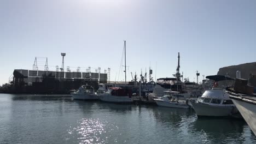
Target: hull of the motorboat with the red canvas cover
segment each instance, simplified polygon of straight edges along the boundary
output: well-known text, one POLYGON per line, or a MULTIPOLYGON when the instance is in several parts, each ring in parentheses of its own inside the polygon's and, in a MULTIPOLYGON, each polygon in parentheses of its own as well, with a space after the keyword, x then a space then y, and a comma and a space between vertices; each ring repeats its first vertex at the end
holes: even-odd
POLYGON ((101 95, 100 100, 110 103, 132 103, 133 99, 128 96, 101 95))

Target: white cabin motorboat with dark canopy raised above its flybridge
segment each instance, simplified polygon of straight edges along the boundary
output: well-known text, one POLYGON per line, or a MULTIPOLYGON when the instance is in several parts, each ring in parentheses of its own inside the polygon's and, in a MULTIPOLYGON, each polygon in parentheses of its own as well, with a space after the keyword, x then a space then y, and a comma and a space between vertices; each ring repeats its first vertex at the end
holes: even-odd
POLYGON ((195 103, 192 103, 197 116, 231 116, 238 113, 229 94, 225 89, 218 87, 218 81, 234 80, 222 75, 207 76, 207 79, 214 80, 214 86, 211 90, 206 90, 201 97, 198 97, 195 103))

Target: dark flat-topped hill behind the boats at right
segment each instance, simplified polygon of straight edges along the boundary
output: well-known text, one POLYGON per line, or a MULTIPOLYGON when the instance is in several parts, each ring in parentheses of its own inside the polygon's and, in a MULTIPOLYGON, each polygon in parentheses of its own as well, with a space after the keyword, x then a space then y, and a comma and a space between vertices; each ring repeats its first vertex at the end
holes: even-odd
POLYGON ((220 68, 218 75, 226 75, 228 73, 230 77, 236 78, 237 70, 241 71, 242 79, 249 79, 250 75, 256 75, 256 62, 220 68))

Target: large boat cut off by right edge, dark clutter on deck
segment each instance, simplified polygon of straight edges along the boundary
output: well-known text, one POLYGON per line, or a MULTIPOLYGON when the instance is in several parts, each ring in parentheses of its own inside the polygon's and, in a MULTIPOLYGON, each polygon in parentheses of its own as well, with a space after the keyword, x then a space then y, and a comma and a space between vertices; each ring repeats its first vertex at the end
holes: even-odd
POLYGON ((236 79, 234 89, 226 88, 226 92, 230 94, 229 98, 236 105, 254 135, 256 135, 256 94, 253 92, 253 89, 254 87, 247 86, 247 80, 236 79), (240 86, 237 86, 237 82, 240 86), (241 85, 242 83, 245 85, 241 85))

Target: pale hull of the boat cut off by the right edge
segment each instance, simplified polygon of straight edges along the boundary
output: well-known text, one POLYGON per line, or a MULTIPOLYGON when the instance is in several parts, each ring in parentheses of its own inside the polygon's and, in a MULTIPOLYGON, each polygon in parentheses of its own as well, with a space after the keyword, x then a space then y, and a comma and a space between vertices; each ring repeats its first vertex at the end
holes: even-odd
MULTIPOLYGON (((256 135, 256 104, 247 103, 246 101, 232 99, 236 105, 238 111, 241 113, 249 127, 252 129, 254 135, 256 135)), ((256 100, 255 100, 256 101, 256 100)))

